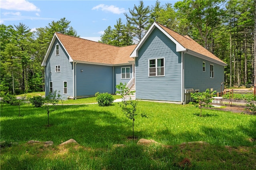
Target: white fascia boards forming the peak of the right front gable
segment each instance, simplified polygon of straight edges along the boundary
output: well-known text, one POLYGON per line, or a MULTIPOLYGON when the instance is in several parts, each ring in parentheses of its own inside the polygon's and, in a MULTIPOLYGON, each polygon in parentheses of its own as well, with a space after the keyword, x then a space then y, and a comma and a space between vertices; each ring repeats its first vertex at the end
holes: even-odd
POLYGON ((168 34, 166 31, 164 31, 158 24, 156 24, 156 22, 154 22, 152 24, 152 26, 148 29, 148 31, 146 32, 145 36, 142 38, 142 40, 138 43, 138 45, 136 46, 136 48, 134 49, 134 51, 132 51, 130 57, 138 57, 138 50, 140 49, 140 47, 143 45, 143 43, 146 41, 146 39, 148 38, 148 36, 151 34, 151 32, 154 30, 154 28, 158 28, 162 33, 164 33, 168 38, 170 38, 170 40, 172 40, 172 42, 174 42, 176 44, 176 51, 177 52, 181 52, 181 51, 186 51, 186 48, 183 47, 179 42, 177 42, 172 36, 170 36, 170 34, 168 34))

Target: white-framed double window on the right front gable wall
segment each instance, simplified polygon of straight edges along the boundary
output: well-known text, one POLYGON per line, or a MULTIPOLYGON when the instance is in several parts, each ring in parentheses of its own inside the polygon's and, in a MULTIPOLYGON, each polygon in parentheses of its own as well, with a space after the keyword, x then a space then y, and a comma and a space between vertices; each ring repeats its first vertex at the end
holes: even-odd
POLYGON ((149 76, 164 76, 164 59, 150 59, 149 60, 149 76))

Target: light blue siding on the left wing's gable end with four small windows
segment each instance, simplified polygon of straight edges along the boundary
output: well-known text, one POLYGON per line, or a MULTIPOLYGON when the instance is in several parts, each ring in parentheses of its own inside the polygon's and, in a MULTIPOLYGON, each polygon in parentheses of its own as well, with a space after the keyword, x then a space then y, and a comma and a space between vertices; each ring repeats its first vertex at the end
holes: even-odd
POLYGON ((45 66, 45 95, 49 95, 50 81, 52 81, 53 91, 60 93, 62 98, 67 99, 68 96, 73 96, 73 68, 72 62, 69 62, 69 57, 56 39, 50 51, 49 57, 45 66), (56 44, 59 44, 59 55, 55 55, 56 44), (60 72, 55 72, 55 66, 60 65, 60 72), (63 94, 63 81, 67 81, 67 94, 63 94), (60 92, 59 92, 60 91, 60 92))

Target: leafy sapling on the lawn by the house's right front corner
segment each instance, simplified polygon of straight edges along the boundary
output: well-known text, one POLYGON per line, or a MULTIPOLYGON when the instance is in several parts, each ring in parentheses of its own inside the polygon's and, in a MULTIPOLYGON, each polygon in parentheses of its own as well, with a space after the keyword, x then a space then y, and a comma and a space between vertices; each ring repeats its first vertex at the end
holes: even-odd
POLYGON ((191 97, 194 99, 194 101, 190 102, 191 104, 195 105, 196 107, 200 108, 200 117, 202 117, 202 106, 203 107, 211 107, 209 103, 212 102, 212 97, 214 97, 216 91, 210 91, 210 89, 206 89, 206 91, 200 93, 191 93, 191 97))

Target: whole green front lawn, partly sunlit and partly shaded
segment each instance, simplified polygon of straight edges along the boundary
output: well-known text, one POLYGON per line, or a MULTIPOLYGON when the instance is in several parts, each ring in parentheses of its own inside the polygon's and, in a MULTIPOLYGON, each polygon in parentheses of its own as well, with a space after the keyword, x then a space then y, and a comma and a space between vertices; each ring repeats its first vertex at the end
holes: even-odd
MULTIPOLYGON (((76 100, 78 101, 78 100, 76 100)), ((132 121, 118 103, 59 105, 47 113, 31 105, 4 105, 1 111, 1 169, 254 169, 256 116, 139 101, 135 136, 162 145, 140 146, 130 140, 132 121), (73 138, 78 144, 58 146, 73 138), (27 144, 29 140, 54 145, 27 144), (3 144, 3 141, 6 141, 3 144), (204 141, 205 143, 182 144, 204 141), (125 144, 113 147, 113 144, 125 144)))

